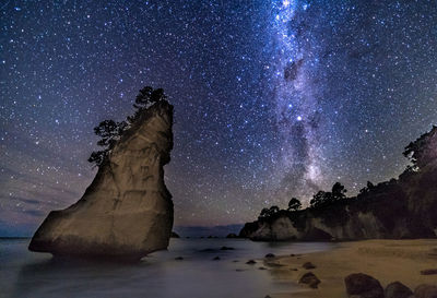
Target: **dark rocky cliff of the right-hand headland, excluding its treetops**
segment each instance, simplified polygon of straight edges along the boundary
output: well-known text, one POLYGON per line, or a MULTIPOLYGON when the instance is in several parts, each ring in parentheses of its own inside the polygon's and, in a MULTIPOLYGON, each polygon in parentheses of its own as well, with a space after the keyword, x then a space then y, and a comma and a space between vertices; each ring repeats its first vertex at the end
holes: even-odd
POLYGON ((436 214, 437 162, 433 162, 356 198, 320 208, 281 211, 248 223, 239 236, 262 241, 434 238, 436 214))

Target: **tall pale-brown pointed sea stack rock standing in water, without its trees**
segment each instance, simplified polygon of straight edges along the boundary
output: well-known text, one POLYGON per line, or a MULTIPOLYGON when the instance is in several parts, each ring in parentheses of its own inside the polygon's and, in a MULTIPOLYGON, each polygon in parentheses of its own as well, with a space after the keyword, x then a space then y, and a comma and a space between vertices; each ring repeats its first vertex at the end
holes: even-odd
POLYGON ((166 249, 173 227, 164 165, 173 148, 173 106, 144 111, 115 144, 82 199, 52 211, 29 250, 140 259, 166 249))

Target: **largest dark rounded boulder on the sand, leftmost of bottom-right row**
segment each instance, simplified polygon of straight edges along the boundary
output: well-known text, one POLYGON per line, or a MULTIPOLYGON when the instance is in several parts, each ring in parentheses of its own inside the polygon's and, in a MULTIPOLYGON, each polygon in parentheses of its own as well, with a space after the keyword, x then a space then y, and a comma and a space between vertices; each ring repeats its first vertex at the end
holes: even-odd
POLYGON ((346 293, 349 296, 362 298, 383 298, 383 288, 381 284, 364 273, 354 273, 344 278, 346 293))

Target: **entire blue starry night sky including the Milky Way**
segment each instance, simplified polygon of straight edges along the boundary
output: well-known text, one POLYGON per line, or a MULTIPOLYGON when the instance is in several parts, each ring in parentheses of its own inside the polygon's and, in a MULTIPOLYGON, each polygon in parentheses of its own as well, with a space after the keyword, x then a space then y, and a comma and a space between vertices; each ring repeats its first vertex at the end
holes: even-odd
POLYGON ((436 1, 2 1, 0 26, 3 234, 80 199, 144 85, 175 106, 176 226, 354 194, 437 123, 436 1))

